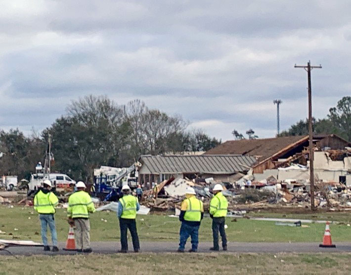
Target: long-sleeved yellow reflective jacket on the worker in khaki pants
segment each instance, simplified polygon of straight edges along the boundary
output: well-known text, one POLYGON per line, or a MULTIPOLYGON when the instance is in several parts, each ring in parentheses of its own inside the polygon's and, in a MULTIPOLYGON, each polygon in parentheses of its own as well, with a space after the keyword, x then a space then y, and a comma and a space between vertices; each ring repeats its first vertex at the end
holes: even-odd
POLYGON ((89 212, 95 212, 94 203, 85 191, 77 191, 68 198, 67 216, 70 218, 88 218, 89 212))

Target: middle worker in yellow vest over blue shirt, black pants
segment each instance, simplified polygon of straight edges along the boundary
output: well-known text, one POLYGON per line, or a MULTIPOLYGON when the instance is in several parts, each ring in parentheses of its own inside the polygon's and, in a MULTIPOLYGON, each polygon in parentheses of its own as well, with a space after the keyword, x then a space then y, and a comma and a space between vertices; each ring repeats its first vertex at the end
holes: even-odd
POLYGON ((139 237, 136 231, 136 211, 140 209, 140 204, 137 197, 132 196, 131 188, 128 185, 122 187, 123 197, 118 201, 117 216, 120 221, 121 231, 121 250, 120 253, 127 253, 128 242, 127 242, 127 230, 131 232, 134 252, 139 252, 140 244, 139 237))

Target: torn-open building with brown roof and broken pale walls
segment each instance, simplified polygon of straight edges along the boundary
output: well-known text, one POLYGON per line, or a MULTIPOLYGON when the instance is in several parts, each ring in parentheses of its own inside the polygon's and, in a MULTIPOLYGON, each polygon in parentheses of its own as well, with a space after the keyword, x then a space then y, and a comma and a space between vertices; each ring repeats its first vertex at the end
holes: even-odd
MULTIPOLYGON (((316 179, 351 185, 351 143, 334 134, 314 135, 313 147, 316 179)), ((205 153, 212 154, 256 157, 252 165, 256 181, 273 177, 309 183, 308 136, 227 141, 205 153)))

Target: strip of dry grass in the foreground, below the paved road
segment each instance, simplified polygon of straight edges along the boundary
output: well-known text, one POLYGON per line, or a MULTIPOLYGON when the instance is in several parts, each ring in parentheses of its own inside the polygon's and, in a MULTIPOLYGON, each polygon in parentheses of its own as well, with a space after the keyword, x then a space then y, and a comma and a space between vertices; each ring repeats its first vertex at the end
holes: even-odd
POLYGON ((350 253, 90 254, 0 257, 0 275, 18 274, 350 274, 350 253))

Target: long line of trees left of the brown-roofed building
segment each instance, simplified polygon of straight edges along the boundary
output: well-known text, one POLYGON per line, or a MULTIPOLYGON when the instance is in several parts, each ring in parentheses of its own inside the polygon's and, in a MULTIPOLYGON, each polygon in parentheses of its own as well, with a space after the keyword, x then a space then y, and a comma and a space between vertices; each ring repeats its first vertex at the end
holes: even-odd
POLYGON ((140 100, 118 105, 107 96, 89 95, 66 111, 40 134, 1 130, 0 174, 29 179, 35 164, 44 160, 49 134, 51 171, 84 181, 100 165, 126 167, 140 155, 207 151, 221 143, 202 129, 187 130, 189 123, 181 116, 150 109, 140 100))

